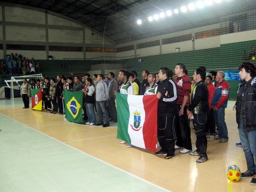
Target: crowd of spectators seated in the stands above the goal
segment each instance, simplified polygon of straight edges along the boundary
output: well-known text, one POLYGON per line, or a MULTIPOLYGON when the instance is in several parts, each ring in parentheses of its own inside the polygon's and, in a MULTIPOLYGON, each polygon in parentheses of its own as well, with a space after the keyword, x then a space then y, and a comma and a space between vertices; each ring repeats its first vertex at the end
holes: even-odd
POLYGON ((39 62, 34 58, 27 59, 21 54, 6 54, 1 61, 0 74, 2 75, 33 75, 40 72, 39 62))

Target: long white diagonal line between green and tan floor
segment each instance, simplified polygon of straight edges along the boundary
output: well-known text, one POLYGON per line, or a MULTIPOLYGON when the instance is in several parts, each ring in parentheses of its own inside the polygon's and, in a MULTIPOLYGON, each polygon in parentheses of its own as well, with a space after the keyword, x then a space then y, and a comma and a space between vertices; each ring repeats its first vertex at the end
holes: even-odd
MULTIPOLYGON (((2 114, 2 113, 0 113, 0 114, 2 114)), ((73 148, 74 150, 79 151, 79 153, 85 154, 85 155, 87 155, 87 156, 89 156, 89 157, 91 157, 91 158, 93 158, 93 159, 95 159, 95 160, 100 161, 101 163, 104 163, 104 164, 106 164, 106 165, 108 165, 108 166, 110 166, 110 167, 113 167, 114 169, 116 169, 116 170, 118 170, 118 171, 121 171, 121 172, 123 172, 123 173, 126 173, 126 174, 128 174, 128 175, 130 175, 130 176, 132 176, 132 177, 134 177, 134 178, 136 178, 136 179, 139 179, 139 180, 141 180, 141 181, 143 181, 143 182, 145 182, 145 183, 148 183, 148 184, 151 185, 151 186, 154 186, 154 187, 156 187, 156 188, 158 188, 158 189, 161 189, 161 190, 163 190, 163 191, 170 191, 170 190, 168 190, 168 189, 165 189, 165 188, 163 188, 163 187, 161 187, 161 186, 156 185, 156 184, 153 183, 153 182, 147 181, 146 179, 143 179, 143 178, 141 178, 141 177, 139 177, 139 176, 137 176, 137 175, 135 175, 135 174, 132 174, 132 173, 130 173, 130 172, 127 172, 127 171, 125 171, 125 170, 122 170, 121 168, 119 168, 119 167, 117 167, 117 166, 111 165, 110 163, 107 163, 107 162, 105 162, 105 161, 103 161, 103 160, 101 160, 101 159, 99 159, 99 158, 97 158, 97 157, 94 157, 94 156, 92 156, 92 155, 90 155, 90 154, 87 154, 87 153, 85 153, 85 152, 82 151, 82 150, 79 150, 79 149, 77 149, 77 148, 75 148, 75 147, 72 147, 72 146, 70 146, 70 145, 68 145, 68 144, 66 144, 66 143, 64 143, 64 142, 61 142, 61 141, 59 141, 59 140, 57 140, 57 139, 51 137, 50 135, 47 135, 47 134, 45 134, 45 133, 43 133, 43 132, 41 132, 41 131, 39 131, 39 130, 36 130, 36 129, 34 129, 34 128, 32 128, 32 127, 30 127, 30 126, 28 126, 28 125, 26 125, 26 124, 24 124, 24 123, 21 123, 21 122, 15 120, 15 119, 13 119, 13 118, 7 116, 7 115, 4 115, 4 114, 2 114, 2 115, 5 116, 5 117, 7 117, 7 118, 12 119, 12 120, 15 121, 15 122, 18 122, 18 123, 20 123, 20 124, 22 124, 22 125, 27 126, 27 127, 30 128, 31 130, 37 131, 38 133, 41 133, 41 134, 45 135, 46 137, 49 137, 49 138, 51 138, 51 139, 53 139, 53 140, 55 140, 55 141, 57 141, 57 142, 59 142, 59 143, 62 143, 63 145, 66 145, 66 146, 68 146, 68 147, 70 147, 70 148, 73 148)), ((53 145, 53 144, 49 144, 49 145, 53 145)))

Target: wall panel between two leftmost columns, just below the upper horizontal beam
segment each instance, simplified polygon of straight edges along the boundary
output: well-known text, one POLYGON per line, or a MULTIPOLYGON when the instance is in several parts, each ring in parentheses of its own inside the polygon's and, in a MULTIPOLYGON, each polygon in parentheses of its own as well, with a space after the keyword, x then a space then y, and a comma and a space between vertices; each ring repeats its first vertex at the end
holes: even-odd
POLYGON ((6 26, 6 41, 45 42, 45 28, 6 26))

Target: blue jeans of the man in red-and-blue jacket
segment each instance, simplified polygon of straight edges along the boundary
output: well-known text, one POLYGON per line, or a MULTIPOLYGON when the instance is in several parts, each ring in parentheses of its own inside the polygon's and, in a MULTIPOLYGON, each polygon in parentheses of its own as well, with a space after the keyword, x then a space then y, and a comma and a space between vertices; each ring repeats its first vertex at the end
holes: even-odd
POLYGON ((219 137, 228 139, 228 128, 225 122, 225 108, 220 107, 218 110, 214 110, 215 123, 218 126, 219 137))

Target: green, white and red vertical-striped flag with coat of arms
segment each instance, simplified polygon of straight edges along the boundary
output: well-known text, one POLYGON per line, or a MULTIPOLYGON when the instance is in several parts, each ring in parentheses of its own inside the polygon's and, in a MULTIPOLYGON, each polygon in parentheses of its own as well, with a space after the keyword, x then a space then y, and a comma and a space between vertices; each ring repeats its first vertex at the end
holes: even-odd
POLYGON ((156 95, 116 93, 117 139, 156 151, 157 103, 156 95))

